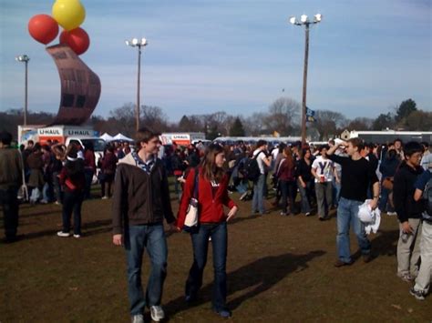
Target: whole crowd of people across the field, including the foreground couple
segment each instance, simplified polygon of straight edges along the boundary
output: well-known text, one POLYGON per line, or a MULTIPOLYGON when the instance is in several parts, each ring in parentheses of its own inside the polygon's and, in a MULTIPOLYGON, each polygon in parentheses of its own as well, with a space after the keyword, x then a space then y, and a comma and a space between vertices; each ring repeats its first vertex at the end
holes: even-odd
POLYGON ((252 200, 252 215, 258 216, 267 215, 273 207, 283 217, 316 214, 325 221, 330 210, 336 209, 338 258, 334 267, 354 262, 350 228, 364 262, 372 259, 373 248, 359 217, 362 207, 369 213, 380 210, 397 216, 397 276, 408 282, 415 280, 410 292, 417 299, 427 295, 432 269, 432 216, 425 195, 428 189, 432 192, 428 143, 404 145, 397 139, 377 145, 365 144, 359 138, 330 140, 322 146, 301 142, 269 146, 264 140, 254 145, 239 142, 225 146, 200 142, 189 147, 167 146, 158 158, 159 134, 142 128, 135 147, 129 143, 108 145, 97 162, 91 145, 40 146, 29 141, 26 147, 14 149, 11 141, 10 134, 0 134, 0 197, 6 240, 17 237, 20 187, 29 187, 31 204, 62 205, 63 229, 57 236, 70 236, 73 213, 73 237, 81 237, 81 205, 92 197, 91 185, 98 181, 100 197, 112 197, 113 243, 124 246, 127 254, 133 322, 143 321, 146 306, 153 320, 164 318, 161 295, 168 247, 163 222, 172 232, 185 229, 192 197, 198 200, 200 217, 196 227, 188 228, 193 263, 185 282, 185 300, 192 303, 199 297, 211 243, 212 309, 222 318, 231 317, 226 306, 227 222, 235 217, 240 201, 247 200, 252 200), (177 217, 171 209, 170 176, 180 200, 177 217), (239 193, 239 202, 231 198, 234 191, 239 193), (273 200, 268 202, 268 198, 273 200), (140 278, 145 250, 151 262, 146 292, 140 278))

